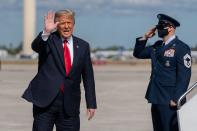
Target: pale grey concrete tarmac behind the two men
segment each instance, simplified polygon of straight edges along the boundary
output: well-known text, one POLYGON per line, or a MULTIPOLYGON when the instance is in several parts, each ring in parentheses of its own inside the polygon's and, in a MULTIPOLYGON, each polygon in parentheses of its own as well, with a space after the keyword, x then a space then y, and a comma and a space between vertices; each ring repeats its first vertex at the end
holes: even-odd
MULTIPOLYGON (((191 84, 197 81, 193 66, 191 84)), ((0 71, 0 131, 31 131, 32 104, 21 98, 37 72, 36 64, 5 64, 0 71)), ((98 109, 88 121, 84 88, 81 131, 152 131, 150 104, 144 98, 150 66, 94 66, 98 109)), ((54 129, 55 131, 55 129, 54 129)))

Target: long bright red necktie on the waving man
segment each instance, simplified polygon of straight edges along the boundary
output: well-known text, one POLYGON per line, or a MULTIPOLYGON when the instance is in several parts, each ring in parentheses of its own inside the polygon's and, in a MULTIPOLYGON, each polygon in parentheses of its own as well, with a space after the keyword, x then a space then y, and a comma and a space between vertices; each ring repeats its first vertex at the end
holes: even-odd
POLYGON ((70 50, 67 44, 68 41, 64 40, 64 62, 65 62, 66 75, 68 76, 71 69, 71 57, 70 57, 70 50))

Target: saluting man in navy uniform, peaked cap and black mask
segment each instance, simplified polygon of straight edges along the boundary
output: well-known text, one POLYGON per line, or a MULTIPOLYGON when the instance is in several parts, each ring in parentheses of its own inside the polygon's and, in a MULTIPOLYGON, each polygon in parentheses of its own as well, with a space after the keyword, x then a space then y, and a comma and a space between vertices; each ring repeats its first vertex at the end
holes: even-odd
POLYGON ((133 55, 140 59, 151 59, 152 71, 146 99, 152 104, 154 131, 178 131, 176 104, 189 85, 191 51, 175 36, 180 23, 165 14, 158 14, 157 17, 159 22, 156 27, 136 39, 133 55), (156 30, 162 40, 146 46, 156 30))

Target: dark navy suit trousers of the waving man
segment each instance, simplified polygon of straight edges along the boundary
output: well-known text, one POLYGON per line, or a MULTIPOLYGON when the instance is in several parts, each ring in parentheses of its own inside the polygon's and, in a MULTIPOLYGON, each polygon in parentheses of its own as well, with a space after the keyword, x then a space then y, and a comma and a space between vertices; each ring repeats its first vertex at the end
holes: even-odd
POLYGON ((33 105, 33 131, 79 131, 80 118, 68 116, 64 111, 63 93, 60 91, 54 101, 46 108, 33 105))

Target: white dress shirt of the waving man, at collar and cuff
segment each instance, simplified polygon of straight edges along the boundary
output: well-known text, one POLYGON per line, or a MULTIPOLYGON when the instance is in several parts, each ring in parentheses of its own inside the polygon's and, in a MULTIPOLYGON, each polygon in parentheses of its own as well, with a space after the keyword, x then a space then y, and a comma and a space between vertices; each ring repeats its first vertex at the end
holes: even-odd
MULTIPOLYGON (((47 41, 48 38, 49 38, 49 35, 50 35, 50 33, 47 33, 47 32, 45 32, 45 31, 43 30, 42 35, 41 35, 42 40, 43 40, 43 41, 47 41)), ((73 63, 73 58, 74 58, 73 37, 71 36, 70 38, 67 39, 67 41, 68 41, 68 45, 67 45, 67 46, 68 46, 68 49, 69 49, 69 51, 70 51, 71 65, 72 65, 72 63, 73 63)), ((62 46, 64 47, 64 39, 63 39, 63 38, 62 38, 62 46)))

